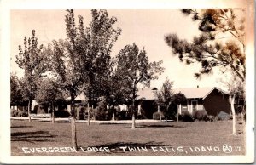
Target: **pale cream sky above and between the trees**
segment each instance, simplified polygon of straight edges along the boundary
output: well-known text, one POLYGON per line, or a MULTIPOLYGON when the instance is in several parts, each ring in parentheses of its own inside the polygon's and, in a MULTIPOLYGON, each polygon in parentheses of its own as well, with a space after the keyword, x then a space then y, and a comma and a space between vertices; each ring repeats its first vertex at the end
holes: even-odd
MULTIPOLYGON (((47 45, 52 40, 66 38, 66 9, 12 9, 10 11, 10 53, 11 71, 22 77, 22 70, 15 63, 15 55, 19 54, 18 46, 23 47, 24 37, 31 37, 36 31, 38 43, 47 45)), ((84 26, 91 20, 90 9, 74 9, 84 17, 84 26)), ((145 48, 150 61, 163 60, 165 69, 158 80, 151 82, 151 87, 160 88, 168 77, 174 82, 174 88, 219 87, 218 70, 212 75, 195 79, 194 73, 199 65, 185 65, 177 55, 172 54, 172 48, 165 43, 164 37, 169 33, 177 33, 178 37, 191 41, 198 35, 198 22, 185 16, 179 9, 108 9, 109 16, 115 16, 118 21, 115 27, 122 29, 118 41, 113 47, 112 56, 127 44, 137 43, 139 48, 145 48)))

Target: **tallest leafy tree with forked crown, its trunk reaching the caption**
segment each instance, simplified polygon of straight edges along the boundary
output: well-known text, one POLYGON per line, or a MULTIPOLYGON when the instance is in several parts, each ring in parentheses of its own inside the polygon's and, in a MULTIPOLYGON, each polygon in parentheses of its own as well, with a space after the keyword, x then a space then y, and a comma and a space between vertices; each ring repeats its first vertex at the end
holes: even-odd
POLYGON ((92 9, 91 15, 90 27, 84 28, 83 17, 79 15, 76 26, 73 9, 67 9, 67 39, 53 43, 52 68, 62 88, 71 96, 73 147, 77 147, 74 99, 84 92, 89 101, 97 100, 104 92, 110 53, 120 34, 119 29, 113 29, 116 19, 109 19, 106 10, 92 9))

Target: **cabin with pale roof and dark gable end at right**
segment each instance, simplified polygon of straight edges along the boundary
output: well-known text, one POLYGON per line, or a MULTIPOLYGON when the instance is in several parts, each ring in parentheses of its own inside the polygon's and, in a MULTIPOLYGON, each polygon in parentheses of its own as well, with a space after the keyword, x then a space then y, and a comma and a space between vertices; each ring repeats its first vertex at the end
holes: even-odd
POLYGON ((230 95, 220 88, 176 88, 175 93, 186 96, 185 104, 178 105, 178 113, 205 110, 208 115, 218 116, 220 111, 230 113, 230 95))

